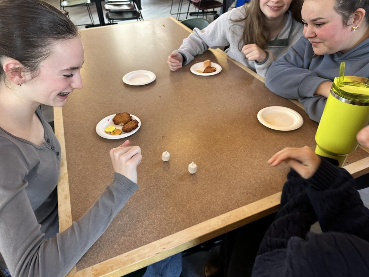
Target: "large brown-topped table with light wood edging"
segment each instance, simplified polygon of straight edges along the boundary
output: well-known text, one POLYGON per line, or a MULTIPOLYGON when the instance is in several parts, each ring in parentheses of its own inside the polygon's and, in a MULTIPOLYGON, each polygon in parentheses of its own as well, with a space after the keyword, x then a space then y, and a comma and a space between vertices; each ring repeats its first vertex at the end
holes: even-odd
MULTIPOLYGON (((286 146, 315 147, 317 123, 223 51, 206 51, 190 64, 211 59, 223 68, 217 75, 194 75, 190 65, 171 72, 166 59, 189 31, 174 18, 81 31, 84 87, 54 111, 63 147, 61 231, 86 212, 113 175, 108 152, 124 140, 99 137, 101 119, 125 111, 138 116, 142 126, 129 139, 141 146, 143 159, 139 190, 70 275, 121 276, 276 211, 289 168, 270 168, 266 161, 286 146), (154 72, 156 80, 122 82, 138 69, 154 72), (298 111, 303 126, 268 129, 256 118, 266 106, 298 111), (161 160, 165 150, 167 163, 161 160), (194 175, 187 171, 192 161, 198 165, 194 175)), ((348 170, 368 172, 367 156, 356 150, 348 170)))

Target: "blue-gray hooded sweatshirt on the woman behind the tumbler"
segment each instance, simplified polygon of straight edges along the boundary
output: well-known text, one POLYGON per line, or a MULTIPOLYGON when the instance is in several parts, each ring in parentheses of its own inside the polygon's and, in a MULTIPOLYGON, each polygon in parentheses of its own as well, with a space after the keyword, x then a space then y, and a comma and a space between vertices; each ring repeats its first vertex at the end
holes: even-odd
POLYGON ((318 85, 333 81, 339 66, 346 62, 345 75, 369 78, 369 39, 342 53, 341 51, 313 58, 307 38, 301 37, 286 54, 273 62, 266 74, 265 85, 272 92, 289 99, 301 99, 309 117, 320 121, 327 98, 314 95, 318 85))

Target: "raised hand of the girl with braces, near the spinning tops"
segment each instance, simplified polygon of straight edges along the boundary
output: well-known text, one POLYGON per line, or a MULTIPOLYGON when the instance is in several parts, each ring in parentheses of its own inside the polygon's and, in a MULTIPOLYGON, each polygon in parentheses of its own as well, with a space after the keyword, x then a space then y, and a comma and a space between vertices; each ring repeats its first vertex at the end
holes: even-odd
POLYGON ((141 163, 141 148, 130 146, 126 140, 119 147, 110 150, 114 172, 120 173, 137 184, 137 165, 141 163))

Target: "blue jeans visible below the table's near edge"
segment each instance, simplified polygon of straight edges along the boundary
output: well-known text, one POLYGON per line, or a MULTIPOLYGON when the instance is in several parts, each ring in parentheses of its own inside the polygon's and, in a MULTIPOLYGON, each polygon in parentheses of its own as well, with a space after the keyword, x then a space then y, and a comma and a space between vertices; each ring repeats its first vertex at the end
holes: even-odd
POLYGON ((182 252, 150 264, 142 277, 179 277, 182 271, 182 252))

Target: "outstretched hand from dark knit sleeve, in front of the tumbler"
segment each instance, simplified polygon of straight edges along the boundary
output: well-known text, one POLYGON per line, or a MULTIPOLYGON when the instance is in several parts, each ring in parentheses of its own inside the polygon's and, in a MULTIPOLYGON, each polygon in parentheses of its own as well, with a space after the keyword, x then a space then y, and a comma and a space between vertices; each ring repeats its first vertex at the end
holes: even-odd
POLYGON ((267 163, 275 167, 282 162, 290 165, 302 178, 308 179, 318 170, 321 158, 310 147, 286 147, 274 154, 267 163))

